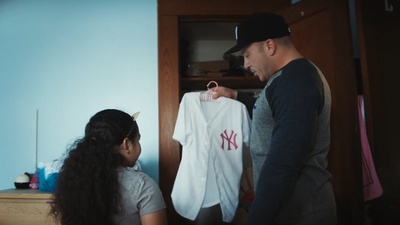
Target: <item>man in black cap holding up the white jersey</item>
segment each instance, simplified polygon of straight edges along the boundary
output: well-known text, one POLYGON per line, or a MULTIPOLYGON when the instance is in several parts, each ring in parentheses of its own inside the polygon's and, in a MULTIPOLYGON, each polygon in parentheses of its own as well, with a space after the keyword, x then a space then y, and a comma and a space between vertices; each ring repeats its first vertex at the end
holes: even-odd
POLYGON ((267 81, 255 99, 219 87, 252 115, 250 150, 255 198, 247 224, 336 224, 332 178, 326 170, 331 95, 321 71, 294 47, 284 19, 257 13, 236 28, 244 66, 267 81))

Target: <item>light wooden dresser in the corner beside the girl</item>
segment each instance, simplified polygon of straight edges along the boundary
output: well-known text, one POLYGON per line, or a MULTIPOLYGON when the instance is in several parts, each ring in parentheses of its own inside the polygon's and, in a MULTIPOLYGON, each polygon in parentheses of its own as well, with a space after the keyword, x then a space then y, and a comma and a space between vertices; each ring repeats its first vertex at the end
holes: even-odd
POLYGON ((0 225, 53 225, 51 193, 34 189, 0 191, 0 225))

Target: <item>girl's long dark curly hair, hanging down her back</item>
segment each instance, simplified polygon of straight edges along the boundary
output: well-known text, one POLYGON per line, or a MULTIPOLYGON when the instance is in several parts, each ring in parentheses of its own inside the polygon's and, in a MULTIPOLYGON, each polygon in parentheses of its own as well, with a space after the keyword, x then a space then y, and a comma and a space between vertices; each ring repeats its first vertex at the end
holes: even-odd
POLYGON ((61 225, 114 224, 121 210, 117 169, 124 158, 119 146, 137 134, 136 122, 125 112, 107 109, 95 114, 85 136, 68 150, 50 215, 61 225))

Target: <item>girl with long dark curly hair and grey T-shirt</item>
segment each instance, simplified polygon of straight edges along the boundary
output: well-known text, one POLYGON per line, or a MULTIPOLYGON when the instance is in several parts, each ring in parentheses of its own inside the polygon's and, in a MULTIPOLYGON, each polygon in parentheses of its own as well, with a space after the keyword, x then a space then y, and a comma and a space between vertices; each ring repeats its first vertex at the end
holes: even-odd
POLYGON ((141 152, 135 119, 114 109, 90 119, 59 173, 50 211, 58 224, 167 224, 157 184, 128 169, 141 152))

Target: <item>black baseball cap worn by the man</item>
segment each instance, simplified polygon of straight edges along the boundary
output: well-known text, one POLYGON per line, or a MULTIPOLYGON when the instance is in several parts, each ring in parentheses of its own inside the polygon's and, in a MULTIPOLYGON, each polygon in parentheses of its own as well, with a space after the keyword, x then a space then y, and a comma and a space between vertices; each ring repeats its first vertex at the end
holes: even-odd
POLYGON ((237 52, 254 42, 290 35, 290 29, 278 14, 256 13, 240 22, 235 33, 237 44, 224 55, 237 52))

